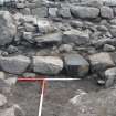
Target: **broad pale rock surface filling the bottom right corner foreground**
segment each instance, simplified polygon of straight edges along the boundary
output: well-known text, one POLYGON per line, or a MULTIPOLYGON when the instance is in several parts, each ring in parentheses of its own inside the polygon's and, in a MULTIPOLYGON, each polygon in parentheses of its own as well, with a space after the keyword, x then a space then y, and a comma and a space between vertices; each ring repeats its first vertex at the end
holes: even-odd
POLYGON ((59 116, 115 116, 116 89, 105 89, 97 93, 77 91, 76 96, 63 106, 59 116))

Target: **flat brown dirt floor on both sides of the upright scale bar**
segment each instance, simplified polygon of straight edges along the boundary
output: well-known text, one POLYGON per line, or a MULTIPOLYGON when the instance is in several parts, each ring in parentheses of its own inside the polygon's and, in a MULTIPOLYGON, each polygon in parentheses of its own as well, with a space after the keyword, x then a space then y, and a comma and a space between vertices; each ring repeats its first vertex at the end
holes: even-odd
MULTIPOLYGON (((68 99, 74 97, 77 89, 89 93, 97 92, 101 88, 92 80, 48 82, 42 116, 59 116, 68 99)), ((17 83, 12 92, 12 101, 22 107, 25 116, 38 116, 41 92, 39 83, 17 83)))

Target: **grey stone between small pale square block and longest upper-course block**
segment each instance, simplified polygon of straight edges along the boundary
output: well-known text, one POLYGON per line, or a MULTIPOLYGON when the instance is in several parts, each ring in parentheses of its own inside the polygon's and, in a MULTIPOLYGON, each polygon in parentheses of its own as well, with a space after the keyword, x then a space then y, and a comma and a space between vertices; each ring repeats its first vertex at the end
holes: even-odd
POLYGON ((57 15, 61 18, 70 19, 71 18, 70 8, 68 7, 60 8, 57 11, 57 15))

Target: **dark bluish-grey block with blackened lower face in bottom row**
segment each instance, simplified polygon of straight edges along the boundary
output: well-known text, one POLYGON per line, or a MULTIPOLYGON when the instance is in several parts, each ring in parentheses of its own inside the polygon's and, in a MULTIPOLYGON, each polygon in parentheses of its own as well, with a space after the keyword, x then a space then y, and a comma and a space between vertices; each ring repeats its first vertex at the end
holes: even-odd
POLYGON ((85 76, 89 71, 88 62, 80 54, 66 54, 64 56, 65 70, 72 76, 85 76))

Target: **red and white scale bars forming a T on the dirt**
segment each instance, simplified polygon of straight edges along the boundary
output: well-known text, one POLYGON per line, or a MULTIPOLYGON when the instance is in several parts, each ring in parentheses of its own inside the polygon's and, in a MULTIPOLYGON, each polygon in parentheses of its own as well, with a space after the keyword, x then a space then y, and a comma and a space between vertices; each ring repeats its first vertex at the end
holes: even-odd
POLYGON ((45 82, 48 81, 78 81, 81 78, 46 78, 44 76, 38 77, 18 77, 18 82, 42 82, 42 91, 40 97, 40 105, 39 105, 39 113, 38 116, 42 115, 42 106, 43 106, 43 98, 44 98, 44 89, 45 89, 45 82))

